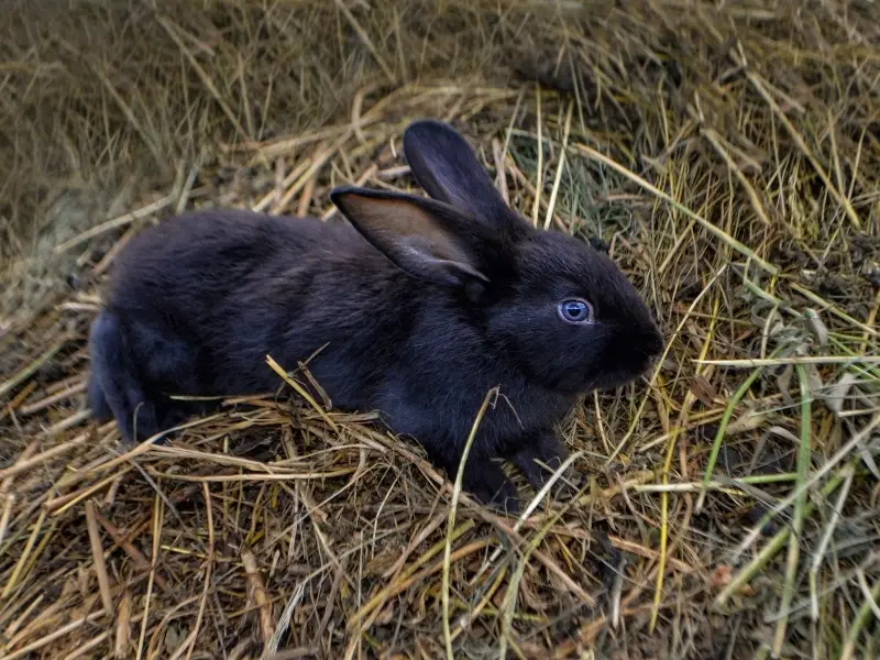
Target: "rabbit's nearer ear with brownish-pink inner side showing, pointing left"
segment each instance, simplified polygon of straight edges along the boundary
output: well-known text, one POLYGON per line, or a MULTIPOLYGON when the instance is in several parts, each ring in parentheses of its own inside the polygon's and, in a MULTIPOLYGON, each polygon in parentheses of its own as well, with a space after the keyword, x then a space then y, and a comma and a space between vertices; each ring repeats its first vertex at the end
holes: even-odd
POLYGON ((461 286, 482 273, 481 224, 447 204, 399 193, 337 188, 330 199, 354 228, 414 277, 461 286))

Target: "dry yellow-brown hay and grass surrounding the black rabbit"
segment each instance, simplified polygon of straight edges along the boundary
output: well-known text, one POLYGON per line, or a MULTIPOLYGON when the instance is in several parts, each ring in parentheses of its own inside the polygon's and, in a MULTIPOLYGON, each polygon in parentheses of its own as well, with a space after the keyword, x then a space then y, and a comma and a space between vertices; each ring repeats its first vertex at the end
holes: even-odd
POLYGON ((184 4, 0 38, 0 657, 878 656, 875 3, 184 4), (450 526, 418 447, 280 378, 167 447, 88 422, 139 229, 409 188, 424 116, 662 320, 657 372, 561 429, 575 502, 450 526))

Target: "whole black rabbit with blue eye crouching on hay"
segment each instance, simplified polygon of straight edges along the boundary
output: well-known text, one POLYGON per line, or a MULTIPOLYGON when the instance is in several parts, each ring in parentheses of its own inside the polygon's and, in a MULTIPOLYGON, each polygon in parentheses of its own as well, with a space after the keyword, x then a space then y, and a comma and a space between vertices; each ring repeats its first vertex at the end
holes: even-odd
POLYGON ((91 328, 95 417, 141 440, 187 415, 166 394, 273 391, 266 354, 294 369, 324 346, 309 370, 334 407, 380 411, 451 477, 498 386, 464 486, 516 509, 491 459, 539 486, 536 459, 565 457, 554 422, 644 373, 662 338, 617 266, 510 210, 451 127, 414 122, 404 152, 433 199, 337 188, 344 218, 218 209, 132 240, 91 328))

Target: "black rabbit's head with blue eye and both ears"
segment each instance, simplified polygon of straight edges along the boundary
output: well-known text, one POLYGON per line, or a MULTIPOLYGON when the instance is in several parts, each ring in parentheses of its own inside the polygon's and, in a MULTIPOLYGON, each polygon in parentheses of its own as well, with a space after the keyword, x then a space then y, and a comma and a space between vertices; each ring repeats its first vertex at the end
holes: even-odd
POLYGON ((432 199, 338 188, 332 200, 399 268, 448 287, 502 363, 565 395, 617 387, 647 370, 662 338, 612 260, 510 209, 448 124, 411 123, 404 153, 432 199))

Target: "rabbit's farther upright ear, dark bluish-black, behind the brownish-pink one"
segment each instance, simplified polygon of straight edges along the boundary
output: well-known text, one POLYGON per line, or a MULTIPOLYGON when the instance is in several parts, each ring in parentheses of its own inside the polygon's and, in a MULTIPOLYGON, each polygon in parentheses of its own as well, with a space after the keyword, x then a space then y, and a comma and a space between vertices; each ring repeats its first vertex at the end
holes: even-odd
POLYGON ((502 229, 514 217, 476 154, 455 129, 421 119, 404 131, 404 155, 413 176, 439 201, 502 229))

